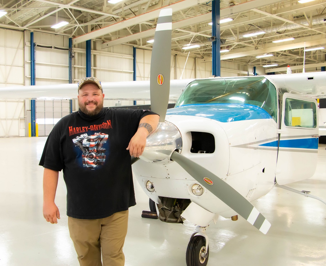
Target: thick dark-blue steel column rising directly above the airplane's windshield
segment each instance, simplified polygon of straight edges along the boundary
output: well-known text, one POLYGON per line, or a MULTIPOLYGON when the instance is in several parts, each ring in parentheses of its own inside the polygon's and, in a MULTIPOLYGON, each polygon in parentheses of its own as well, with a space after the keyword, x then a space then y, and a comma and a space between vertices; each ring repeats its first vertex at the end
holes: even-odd
POLYGON ((214 77, 221 76, 221 39, 220 39, 220 0, 212 1, 212 74, 214 77))

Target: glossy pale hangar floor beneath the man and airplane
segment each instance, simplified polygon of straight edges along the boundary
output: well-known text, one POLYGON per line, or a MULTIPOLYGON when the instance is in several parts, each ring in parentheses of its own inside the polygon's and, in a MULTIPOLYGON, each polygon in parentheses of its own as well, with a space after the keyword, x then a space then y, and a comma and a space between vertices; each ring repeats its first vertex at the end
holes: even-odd
MULTIPOLYGON (((77 266, 69 238, 66 188, 59 176, 56 204, 61 219, 50 224, 42 215, 43 168, 38 166, 45 137, 0 138, 0 265, 77 266)), ((326 199, 326 150, 319 146, 315 175, 291 184, 326 199)), ((167 224, 141 218, 149 210, 148 198, 135 183, 137 205, 129 209, 124 252, 126 266, 186 265, 185 251, 195 226, 167 224)), ((253 202, 271 222, 264 235, 246 222, 219 218, 206 231, 208 266, 325 266, 326 205, 287 190, 274 188, 253 202)))

